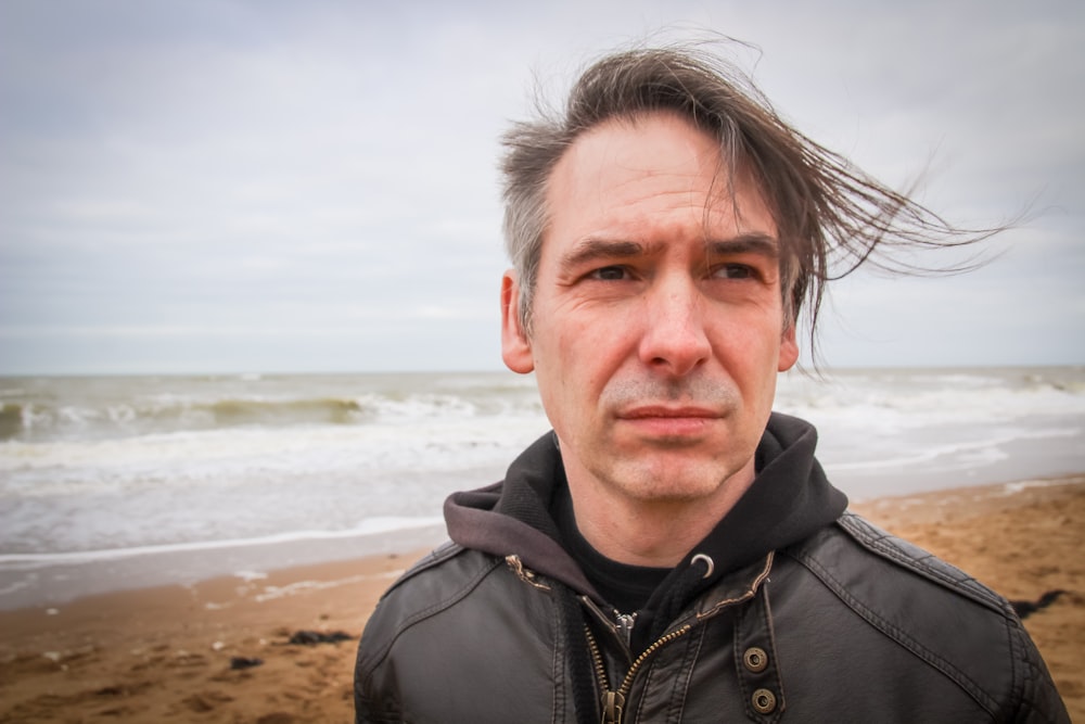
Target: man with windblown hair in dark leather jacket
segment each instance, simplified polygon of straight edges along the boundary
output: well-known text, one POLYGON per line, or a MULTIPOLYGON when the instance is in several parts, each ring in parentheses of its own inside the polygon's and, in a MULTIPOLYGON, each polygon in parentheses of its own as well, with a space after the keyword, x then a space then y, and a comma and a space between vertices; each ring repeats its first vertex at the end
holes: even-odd
POLYGON ((502 356, 553 432, 446 503, 359 722, 1069 721, 1007 602, 846 513, 771 412, 830 262, 976 237, 726 73, 618 53, 507 136, 502 356))

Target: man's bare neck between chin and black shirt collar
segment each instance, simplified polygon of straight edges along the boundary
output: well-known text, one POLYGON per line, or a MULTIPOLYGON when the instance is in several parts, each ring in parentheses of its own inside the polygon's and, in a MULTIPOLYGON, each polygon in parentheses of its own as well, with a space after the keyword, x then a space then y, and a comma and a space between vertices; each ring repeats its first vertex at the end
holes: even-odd
POLYGON ((754 474, 751 460, 712 495, 680 500, 630 499, 614 487, 572 475, 569 487, 576 526, 596 550, 629 566, 672 568, 735 507, 754 474))

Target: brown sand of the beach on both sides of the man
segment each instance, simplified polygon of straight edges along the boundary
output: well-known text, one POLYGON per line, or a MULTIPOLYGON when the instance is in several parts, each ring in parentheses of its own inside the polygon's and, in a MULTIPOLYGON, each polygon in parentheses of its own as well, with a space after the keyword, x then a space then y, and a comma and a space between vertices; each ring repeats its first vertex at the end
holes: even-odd
MULTIPOLYGON (((1011 599, 1068 593, 1025 621, 1085 722, 1085 475, 853 506, 1011 599)), ((417 555, 218 579, 0 612, 0 722, 348 722, 357 637, 417 555), (231 659, 263 663, 231 669, 231 659)))

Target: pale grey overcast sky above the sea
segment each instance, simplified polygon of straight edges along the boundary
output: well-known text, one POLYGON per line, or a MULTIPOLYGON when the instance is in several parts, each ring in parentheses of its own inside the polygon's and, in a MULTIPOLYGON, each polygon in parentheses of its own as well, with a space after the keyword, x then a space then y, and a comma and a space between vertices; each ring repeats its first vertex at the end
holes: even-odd
POLYGON ((0 373, 500 368, 498 136, 666 27, 950 220, 1031 209, 979 272, 830 285, 830 366, 1083 364, 1083 9, 0 0, 0 373))

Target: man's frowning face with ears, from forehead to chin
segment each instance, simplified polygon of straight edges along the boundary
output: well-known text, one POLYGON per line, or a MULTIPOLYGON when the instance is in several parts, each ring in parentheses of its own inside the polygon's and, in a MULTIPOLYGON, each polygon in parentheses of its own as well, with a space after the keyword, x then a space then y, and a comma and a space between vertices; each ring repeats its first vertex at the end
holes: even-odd
POLYGON ((571 485, 679 503, 753 477, 799 353, 776 225, 718 168, 711 137, 653 114, 584 134, 553 170, 532 334, 510 272, 502 352, 535 371, 571 485))

